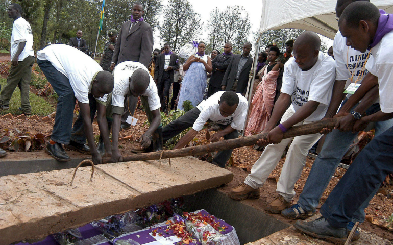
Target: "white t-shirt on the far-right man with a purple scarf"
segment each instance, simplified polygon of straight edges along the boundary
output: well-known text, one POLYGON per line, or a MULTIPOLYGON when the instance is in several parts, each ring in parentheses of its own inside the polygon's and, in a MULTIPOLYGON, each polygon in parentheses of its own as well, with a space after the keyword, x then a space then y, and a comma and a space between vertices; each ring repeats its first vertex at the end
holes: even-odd
POLYGON ((378 77, 379 105, 384 113, 393 112, 393 31, 387 33, 382 40, 371 48, 372 56, 367 61, 366 68, 378 77))

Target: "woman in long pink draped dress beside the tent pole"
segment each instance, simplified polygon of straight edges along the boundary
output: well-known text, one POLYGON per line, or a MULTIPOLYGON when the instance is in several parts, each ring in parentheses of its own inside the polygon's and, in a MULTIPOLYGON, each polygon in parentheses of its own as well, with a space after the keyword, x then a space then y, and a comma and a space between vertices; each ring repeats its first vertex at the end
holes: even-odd
POLYGON ((247 128, 245 129, 245 136, 262 132, 272 115, 274 98, 276 96, 277 78, 280 74, 280 67, 276 63, 276 59, 279 55, 280 50, 278 47, 271 47, 267 58, 269 64, 261 69, 263 77, 251 101, 251 113, 247 128))

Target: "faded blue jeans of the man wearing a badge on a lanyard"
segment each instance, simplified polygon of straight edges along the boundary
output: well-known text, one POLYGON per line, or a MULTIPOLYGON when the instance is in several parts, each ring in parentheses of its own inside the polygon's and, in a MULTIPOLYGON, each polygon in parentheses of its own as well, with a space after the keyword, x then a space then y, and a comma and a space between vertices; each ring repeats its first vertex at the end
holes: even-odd
MULTIPOLYGON (((342 102, 341 106, 346 102, 347 99, 342 102)), ((355 105, 353 108, 356 106, 357 105, 355 105)), ((379 103, 376 103, 366 110, 366 114, 371 115, 380 110, 379 103)), ((393 119, 376 122, 375 135, 380 135, 392 126, 393 119)), ((322 150, 315 159, 310 174, 308 175, 306 184, 303 188, 303 192, 299 196, 298 205, 301 208, 307 211, 312 211, 318 206, 318 202, 322 197, 326 187, 328 186, 334 171, 357 135, 358 132, 340 132, 337 129, 326 135, 322 150)), ((357 156, 357 158, 358 157, 359 156, 357 156)), ((377 191, 378 188, 376 188, 374 192, 371 193, 370 197, 365 200, 365 203, 361 205, 360 208, 354 213, 354 221, 359 221, 361 223, 364 222, 364 209, 369 206, 370 200, 374 197, 377 191)))

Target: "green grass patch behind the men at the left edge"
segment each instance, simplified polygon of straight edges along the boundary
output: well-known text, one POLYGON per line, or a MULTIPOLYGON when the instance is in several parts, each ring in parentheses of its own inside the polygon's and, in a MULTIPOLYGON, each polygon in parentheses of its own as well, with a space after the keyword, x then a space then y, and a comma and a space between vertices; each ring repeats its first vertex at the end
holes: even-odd
MULTIPOLYGON (((7 79, 0 78, 2 88, 7 84, 7 79)), ((30 105, 32 107, 32 115, 47 116, 56 110, 54 106, 46 102, 42 97, 30 92, 30 105)), ((0 110, 0 114, 5 115, 11 113, 12 115, 20 115, 22 112, 18 109, 20 107, 20 90, 16 87, 12 94, 10 101, 10 109, 0 110)))

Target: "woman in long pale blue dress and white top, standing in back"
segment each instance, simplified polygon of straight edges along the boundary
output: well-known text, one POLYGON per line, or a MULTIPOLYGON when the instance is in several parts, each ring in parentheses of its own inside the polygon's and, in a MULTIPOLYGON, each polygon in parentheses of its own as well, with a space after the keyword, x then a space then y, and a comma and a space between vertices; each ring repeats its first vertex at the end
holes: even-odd
POLYGON ((203 95, 206 90, 206 72, 212 71, 211 59, 205 54, 206 45, 204 42, 198 44, 198 52, 191 55, 187 62, 183 65, 183 70, 187 71, 183 78, 178 108, 184 110, 183 102, 190 101, 192 106, 198 106, 203 100, 203 95))

